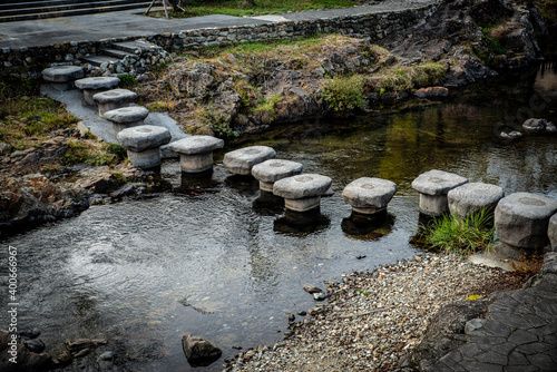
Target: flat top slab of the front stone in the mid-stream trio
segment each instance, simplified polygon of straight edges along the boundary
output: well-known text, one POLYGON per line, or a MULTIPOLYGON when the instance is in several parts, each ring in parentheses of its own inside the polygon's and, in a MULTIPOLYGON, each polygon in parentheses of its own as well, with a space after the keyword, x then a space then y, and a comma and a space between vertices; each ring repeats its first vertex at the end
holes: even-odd
POLYGON ((302 174, 275 182, 273 194, 286 199, 301 199, 323 195, 332 179, 317 174, 302 174))

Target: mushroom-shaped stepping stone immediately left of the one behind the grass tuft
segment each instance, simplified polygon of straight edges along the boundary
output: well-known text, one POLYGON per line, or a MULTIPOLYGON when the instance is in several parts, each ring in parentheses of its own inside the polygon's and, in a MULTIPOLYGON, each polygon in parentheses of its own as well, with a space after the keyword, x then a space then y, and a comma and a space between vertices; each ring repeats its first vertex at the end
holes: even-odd
POLYGON ((420 212, 430 216, 441 216, 449 212, 447 193, 468 179, 443 170, 422 173, 412 182, 412 188, 420 193, 420 212))

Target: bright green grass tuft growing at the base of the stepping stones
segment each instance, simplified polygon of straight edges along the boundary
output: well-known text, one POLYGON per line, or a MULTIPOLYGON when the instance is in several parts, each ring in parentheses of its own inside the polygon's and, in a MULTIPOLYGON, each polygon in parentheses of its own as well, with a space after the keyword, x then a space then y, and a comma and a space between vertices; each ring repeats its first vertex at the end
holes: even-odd
POLYGON ((443 216, 426 228, 426 243, 433 248, 460 255, 489 248, 495 232, 495 227, 489 227, 491 218, 491 214, 486 209, 467 218, 443 216))

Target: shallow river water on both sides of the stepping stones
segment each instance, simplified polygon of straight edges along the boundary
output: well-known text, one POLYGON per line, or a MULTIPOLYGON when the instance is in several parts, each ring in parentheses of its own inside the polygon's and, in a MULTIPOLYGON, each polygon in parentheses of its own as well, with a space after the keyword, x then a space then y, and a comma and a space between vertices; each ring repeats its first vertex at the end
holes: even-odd
MULTIPOLYGON (((304 285, 324 288, 343 273, 420 252, 409 243, 419 218, 410 184, 419 174, 443 169, 507 194, 557 198, 557 137, 497 137, 527 117, 557 123, 556 70, 546 65, 444 102, 411 100, 381 108, 388 114, 287 125, 253 139, 333 179, 335 194, 303 228, 262 208, 250 182, 229 177, 222 154, 208 182, 182 179, 177 161, 165 163, 172 192, 94 206, 1 243, 3 260, 8 245, 20 255, 19 327, 40 330, 55 354, 67 340, 107 339, 102 350, 133 371, 192 370, 180 344, 186 333, 217 344, 223 359, 234 346, 273 344, 286 331, 285 311, 314 306, 304 285), (389 224, 356 236, 341 192, 362 176, 391 179, 399 192, 389 224)), ((221 369, 222 360, 196 370, 221 369)))

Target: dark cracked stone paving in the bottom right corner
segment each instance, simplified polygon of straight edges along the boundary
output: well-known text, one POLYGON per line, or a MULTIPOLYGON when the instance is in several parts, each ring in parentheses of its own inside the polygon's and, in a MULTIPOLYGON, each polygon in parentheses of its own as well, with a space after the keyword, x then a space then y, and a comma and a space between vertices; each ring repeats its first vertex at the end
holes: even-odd
POLYGON ((557 371, 557 253, 548 253, 541 281, 488 307, 488 322, 430 372, 557 371))

